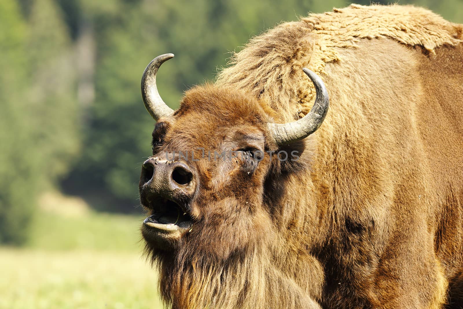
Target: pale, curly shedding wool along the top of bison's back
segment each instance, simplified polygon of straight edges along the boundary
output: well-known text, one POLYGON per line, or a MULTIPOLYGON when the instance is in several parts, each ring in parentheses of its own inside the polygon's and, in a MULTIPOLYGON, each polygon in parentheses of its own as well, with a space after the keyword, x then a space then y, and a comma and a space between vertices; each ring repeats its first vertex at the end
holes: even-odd
POLYGON ((313 69, 323 73, 325 63, 341 60, 335 47, 357 47, 362 38, 393 38, 407 45, 421 45, 434 52, 444 44, 462 42, 463 25, 415 6, 361 6, 352 4, 333 12, 314 14, 303 21, 319 36, 313 50, 313 69))

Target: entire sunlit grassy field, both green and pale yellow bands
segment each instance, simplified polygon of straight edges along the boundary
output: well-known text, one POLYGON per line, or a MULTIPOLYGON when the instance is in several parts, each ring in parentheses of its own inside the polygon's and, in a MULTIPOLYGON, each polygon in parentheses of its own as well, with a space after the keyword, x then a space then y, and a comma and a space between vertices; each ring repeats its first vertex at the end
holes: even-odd
POLYGON ((25 248, 0 247, 1 309, 161 309, 141 216, 41 209, 25 248))

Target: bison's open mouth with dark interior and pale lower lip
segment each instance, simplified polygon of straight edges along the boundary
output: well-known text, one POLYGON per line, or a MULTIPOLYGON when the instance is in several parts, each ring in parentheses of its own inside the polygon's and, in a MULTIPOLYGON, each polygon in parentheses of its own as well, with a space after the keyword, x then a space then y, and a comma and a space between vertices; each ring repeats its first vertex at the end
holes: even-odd
POLYGON ((193 218, 176 202, 160 198, 150 203, 151 215, 143 221, 145 227, 166 232, 191 230, 193 218))

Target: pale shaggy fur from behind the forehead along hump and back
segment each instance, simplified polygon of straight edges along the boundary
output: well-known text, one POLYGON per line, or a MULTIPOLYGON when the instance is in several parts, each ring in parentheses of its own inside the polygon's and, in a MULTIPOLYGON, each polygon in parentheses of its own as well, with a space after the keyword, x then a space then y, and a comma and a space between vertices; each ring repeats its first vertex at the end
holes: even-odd
POLYGON ((240 88, 281 115, 282 121, 305 115, 315 90, 302 67, 325 73, 325 64, 342 61, 339 48, 357 48, 361 39, 392 38, 433 53, 442 45, 463 41, 463 25, 424 8, 399 5, 350 5, 312 14, 263 33, 233 55, 217 83, 240 88), (298 114, 294 114, 298 106, 298 114))

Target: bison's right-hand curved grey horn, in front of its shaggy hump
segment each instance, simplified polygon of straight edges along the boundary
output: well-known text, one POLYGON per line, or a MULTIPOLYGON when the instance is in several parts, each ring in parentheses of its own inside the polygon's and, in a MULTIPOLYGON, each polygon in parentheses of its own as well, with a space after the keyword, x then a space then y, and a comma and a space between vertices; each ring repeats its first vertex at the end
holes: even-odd
POLYGON ((288 123, 269 123, 270 132, 277 145, 286 145, 305 139, 321 126, 330 106, 328 92, 321 78, 309 69, 302 69, 315 86, 315 103, 310 113, 297 121, 288 123))

